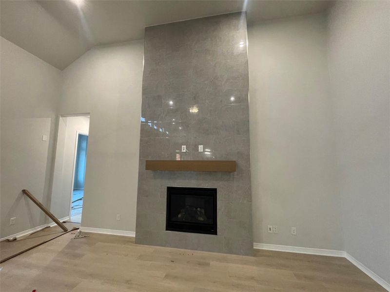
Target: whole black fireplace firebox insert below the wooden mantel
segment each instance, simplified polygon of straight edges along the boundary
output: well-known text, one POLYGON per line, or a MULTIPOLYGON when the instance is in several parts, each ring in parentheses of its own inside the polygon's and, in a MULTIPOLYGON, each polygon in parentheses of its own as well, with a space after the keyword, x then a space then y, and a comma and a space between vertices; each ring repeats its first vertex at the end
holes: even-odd
POLYGON ((216 188, 168 186, 166 230, 216 235, 216 188))

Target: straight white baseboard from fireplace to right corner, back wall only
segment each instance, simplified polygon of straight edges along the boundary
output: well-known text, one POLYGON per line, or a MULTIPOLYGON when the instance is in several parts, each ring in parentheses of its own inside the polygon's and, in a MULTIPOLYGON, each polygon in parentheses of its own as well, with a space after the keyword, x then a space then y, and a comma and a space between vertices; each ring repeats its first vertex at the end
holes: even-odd
POLYGON ((339 257, 345 256, 344 251, 326 250, 326 249, 319 249, 319 248, 308 248, 308 247, 276 245, 276 244, 255 243, 255 242, 253 244, 253 247, 255 249, 297 253, 297 254, 308 254, 308 255, 318 255, 318 256, 339 256, 339 257))

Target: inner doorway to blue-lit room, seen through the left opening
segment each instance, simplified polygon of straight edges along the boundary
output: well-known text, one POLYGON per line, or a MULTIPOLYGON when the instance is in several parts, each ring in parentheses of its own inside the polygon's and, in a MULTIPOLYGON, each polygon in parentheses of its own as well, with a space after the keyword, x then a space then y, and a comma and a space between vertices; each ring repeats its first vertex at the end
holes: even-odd
POLYGON ((72 222, 81 222, 84 201, 85 168, 87 165, 88 133, 76 131, 75 163, 73 168, 73 187, 70 208, 72 222))

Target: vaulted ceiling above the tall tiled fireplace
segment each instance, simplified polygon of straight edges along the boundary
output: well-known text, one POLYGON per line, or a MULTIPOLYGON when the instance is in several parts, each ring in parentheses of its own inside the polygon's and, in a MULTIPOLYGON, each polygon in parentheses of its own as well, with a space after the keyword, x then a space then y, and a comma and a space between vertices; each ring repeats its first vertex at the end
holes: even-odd
POLYGON ((330 1, 0 1, 1 37, 62 70, 96 45, 142 39, 145 26, 247 11, 248 23, 319 13, 330 1))

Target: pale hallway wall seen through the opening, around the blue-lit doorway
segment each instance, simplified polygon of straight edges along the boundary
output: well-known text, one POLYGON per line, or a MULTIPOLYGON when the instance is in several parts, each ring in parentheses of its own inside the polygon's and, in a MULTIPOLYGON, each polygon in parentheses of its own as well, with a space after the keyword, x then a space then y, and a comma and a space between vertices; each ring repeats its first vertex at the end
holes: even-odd
POLYGON ((54 166, 51 212, 58 218, 69 216, 77 131, 88 134, 89 116, 61 117, 54 166))

